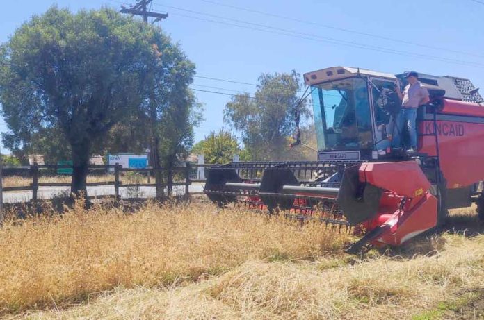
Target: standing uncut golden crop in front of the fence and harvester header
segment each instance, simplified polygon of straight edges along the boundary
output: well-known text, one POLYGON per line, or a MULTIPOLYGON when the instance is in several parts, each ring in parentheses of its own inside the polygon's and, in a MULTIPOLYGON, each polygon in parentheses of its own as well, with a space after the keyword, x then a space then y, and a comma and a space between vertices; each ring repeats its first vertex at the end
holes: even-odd
POLYGON ((58 308, 117 287, 180 285, 248 260, 317 260, 341 253, 347 241, 321 224, 213 205, 147 205, 126 214, 78 204, 0 230, 0 308, 58 308))

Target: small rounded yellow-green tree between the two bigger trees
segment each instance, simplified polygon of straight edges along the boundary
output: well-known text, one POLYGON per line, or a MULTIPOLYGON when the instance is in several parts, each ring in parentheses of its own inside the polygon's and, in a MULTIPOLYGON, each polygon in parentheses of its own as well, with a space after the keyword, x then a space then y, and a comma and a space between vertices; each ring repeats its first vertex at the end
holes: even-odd
POLYGON ((202 154, 207 163, 231 162, 234 154, 241 155, 237 138, 229 130, 211 132, 204 140, 193 146, 192 153, 202 154))

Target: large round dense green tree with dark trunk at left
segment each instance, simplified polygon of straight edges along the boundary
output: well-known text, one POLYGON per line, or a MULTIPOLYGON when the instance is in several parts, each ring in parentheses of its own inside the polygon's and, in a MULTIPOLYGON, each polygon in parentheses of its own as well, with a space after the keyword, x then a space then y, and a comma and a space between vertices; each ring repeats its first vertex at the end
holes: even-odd
POLYGON ((52 7, 20 26, 0 53, 6 146, 28 148, 57 132, 72 153, 76 193, 86 191, 90 155, 115 141, 116 130, 159 136, 147 125, 150 115, 156 124, 170 117, 195 72, 159 28, 108 8, 72 14, 52 7))

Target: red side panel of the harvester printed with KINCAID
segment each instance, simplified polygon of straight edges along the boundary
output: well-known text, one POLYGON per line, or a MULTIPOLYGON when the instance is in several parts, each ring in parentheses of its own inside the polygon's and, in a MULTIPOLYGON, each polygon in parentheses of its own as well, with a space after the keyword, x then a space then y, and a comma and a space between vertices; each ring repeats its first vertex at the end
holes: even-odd
MULTIPOLYGON (((421 121, 419 133, 433 134, 433 121, 421 121)), ((484 180, 484 124, 437 121, 440 165, 447 187, 467 187, 484 180)), ((435 137, 419 139, 419 152, 435 155, 435 137)))

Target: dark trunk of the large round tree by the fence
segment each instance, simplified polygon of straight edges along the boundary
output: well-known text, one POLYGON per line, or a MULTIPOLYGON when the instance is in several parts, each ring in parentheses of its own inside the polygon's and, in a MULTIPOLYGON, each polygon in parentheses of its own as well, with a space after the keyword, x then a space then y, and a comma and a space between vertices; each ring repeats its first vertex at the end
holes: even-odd
POLYGON ((86 180, 89 169, 90 142, 72 145, 72 182, 71 193, 75 196, 87 196, 86 180))

